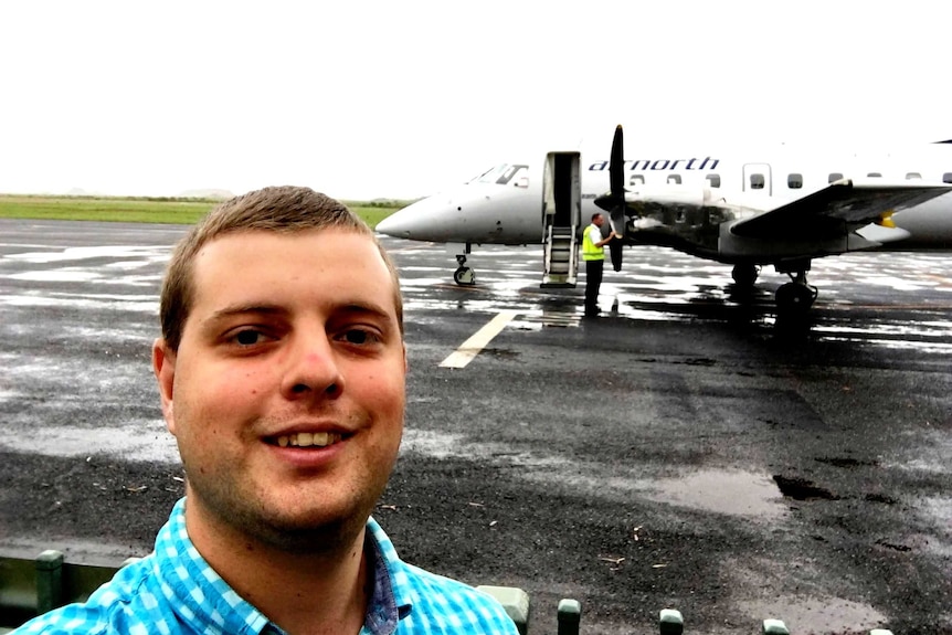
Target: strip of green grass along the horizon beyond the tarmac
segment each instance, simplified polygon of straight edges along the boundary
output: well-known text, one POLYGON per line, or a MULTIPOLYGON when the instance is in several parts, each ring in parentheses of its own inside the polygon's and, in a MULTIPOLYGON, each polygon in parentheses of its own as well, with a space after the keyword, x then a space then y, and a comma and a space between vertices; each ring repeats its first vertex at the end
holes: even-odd
MULTIPOLYGON (((0 194, 0 219, 191 224, 220 201, 211 199, 33 197, 0 194)), ((345 201, 371 227, 411 201, 345 201)))

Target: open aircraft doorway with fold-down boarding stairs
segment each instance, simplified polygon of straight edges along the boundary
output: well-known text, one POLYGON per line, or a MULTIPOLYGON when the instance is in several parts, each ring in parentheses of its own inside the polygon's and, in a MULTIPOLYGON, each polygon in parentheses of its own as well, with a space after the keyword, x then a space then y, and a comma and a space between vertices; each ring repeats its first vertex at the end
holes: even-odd
POLYGON ((573 288, 579 277, 582 188, 579 152, 549 152, 542 177, 546 250, 542 288, 573 288))

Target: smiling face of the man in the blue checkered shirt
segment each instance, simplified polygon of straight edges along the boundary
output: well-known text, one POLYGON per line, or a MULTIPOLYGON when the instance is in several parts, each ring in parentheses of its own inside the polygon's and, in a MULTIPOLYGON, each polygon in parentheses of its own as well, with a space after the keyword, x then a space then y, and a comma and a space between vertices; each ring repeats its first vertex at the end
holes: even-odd
POLYGON ((193 276, 178 352, 154 350, 190 533, 353 536, 403 430, 405 349, 377 245, 340 229, 229 234, 193 276))

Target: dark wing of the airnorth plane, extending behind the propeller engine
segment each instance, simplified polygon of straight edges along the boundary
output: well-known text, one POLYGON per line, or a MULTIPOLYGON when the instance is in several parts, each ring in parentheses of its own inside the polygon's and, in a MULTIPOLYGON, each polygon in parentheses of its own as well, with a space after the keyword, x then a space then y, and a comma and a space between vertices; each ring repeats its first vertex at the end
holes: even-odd
POLYGON ((952 184, 856 182, 844 179, 773 210, 742 219, 732 234, 750 239, 842 235, 846 226, 886 219, 952 190, 952 184))

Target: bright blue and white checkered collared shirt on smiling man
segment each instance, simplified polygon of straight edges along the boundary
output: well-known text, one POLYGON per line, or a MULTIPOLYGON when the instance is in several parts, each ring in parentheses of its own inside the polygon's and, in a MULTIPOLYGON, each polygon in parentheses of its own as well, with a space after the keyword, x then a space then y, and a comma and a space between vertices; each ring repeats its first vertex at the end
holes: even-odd
MULTIPOLYGON (((284 633, 199 554, 186 531, 184 501, 176 504, 152 553, 125 565, 86 603, 51 611, 13 633, 284 633)), ((496 600, 406 564, 372 518, 367 528, 375 583, 361 635, 517 634, 496 600)))

